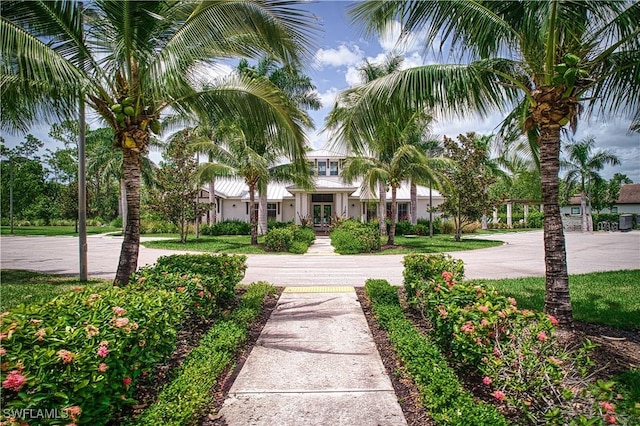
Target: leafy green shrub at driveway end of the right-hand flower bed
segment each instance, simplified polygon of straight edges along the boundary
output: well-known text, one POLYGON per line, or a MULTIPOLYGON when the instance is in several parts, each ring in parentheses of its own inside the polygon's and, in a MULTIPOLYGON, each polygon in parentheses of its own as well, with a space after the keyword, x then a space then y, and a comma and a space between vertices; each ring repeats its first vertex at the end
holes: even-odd
POLYGON ((404 289, 407 298, 416 296, 418 291, 424 292, 425 283, 439 278, 444 271, 450 272, 454 280, 464 277, 464 262, 454 259, 448 254, 409 254, 404 257, 404 289))

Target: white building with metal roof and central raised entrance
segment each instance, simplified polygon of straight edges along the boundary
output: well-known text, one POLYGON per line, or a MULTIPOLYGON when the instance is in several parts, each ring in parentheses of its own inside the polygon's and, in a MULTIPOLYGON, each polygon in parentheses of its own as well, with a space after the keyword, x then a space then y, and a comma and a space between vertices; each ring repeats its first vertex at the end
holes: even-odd
MULTIPOLYGON (((361 190, 360 182, 346 184, 340 177, 345 156, 328 150, 309 152, 307 158, 315 170, 311 191, 284 183, 270 183, 267 187, 267 214, 279 222, 301 223, 311 220, 322 230, 336 217, 368 221, 377 218, 379 197, 376 192, 361 190)), ((418 186, 418 218, 429 218, 429 207, 443 202, 442 195, 418 186), (431 199, 431 201, 430 201, 431 199)), ((216 222, 225 220, 249 221, 249 188, 240 178, 218 178, 215 181, 216 222)), ((408 220, 411 195, 408 183, 398 188, 398 220, 408 220)), ((200 191, 200 200, 209 202, 207 187, 200 191)), ((258 205, 258 194, 255 194, 258 205)), ((391 191, 387 192, 387 217, 391 214, 391 191)), ((434 217, 436 214, 434 213, 434 217)))

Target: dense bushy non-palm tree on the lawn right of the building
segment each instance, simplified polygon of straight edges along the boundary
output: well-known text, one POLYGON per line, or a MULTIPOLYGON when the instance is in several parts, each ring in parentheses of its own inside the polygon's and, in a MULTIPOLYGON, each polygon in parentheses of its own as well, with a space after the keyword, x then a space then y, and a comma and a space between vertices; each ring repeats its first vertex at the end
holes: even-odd
POLYGON ((466 225, 480 220, 501 201, 488 191, 496 181, 495 172, 487 166, 489 139, 474 133, 458 135, 457 142, 444 137, 444 156, 455 165, 443 171, 450 185, 443 193, 440 209, 453 217, 456 241, 461 240, 466 225))

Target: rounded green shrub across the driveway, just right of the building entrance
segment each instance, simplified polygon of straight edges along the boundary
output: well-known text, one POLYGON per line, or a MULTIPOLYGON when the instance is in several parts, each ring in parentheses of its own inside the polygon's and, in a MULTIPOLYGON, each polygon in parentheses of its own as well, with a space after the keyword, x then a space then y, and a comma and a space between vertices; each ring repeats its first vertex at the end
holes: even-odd
POLYGON ((335 251, 340 254, 380 250, 380 234, 372 224, 345 220, 331 231, 330 237, 335 251))

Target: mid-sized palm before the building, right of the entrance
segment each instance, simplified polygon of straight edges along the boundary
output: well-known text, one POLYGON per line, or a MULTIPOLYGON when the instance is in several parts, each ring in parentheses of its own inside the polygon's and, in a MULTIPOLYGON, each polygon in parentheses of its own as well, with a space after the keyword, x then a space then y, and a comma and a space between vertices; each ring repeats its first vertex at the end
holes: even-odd
POLYGON ((368 189, 375 192, 380 182, 385 182, 391 188, 391 226, 387 245, 395 244, 398 216, 396 195, 402 183, 432 181, 439 185, 440 182, 440 175, 432 167, 426 155, 410 144, 400 145, 388 161, 381 160, 379 156, 348 157, 342 177, 349 183, 361 177, 362 190, 368 189))

